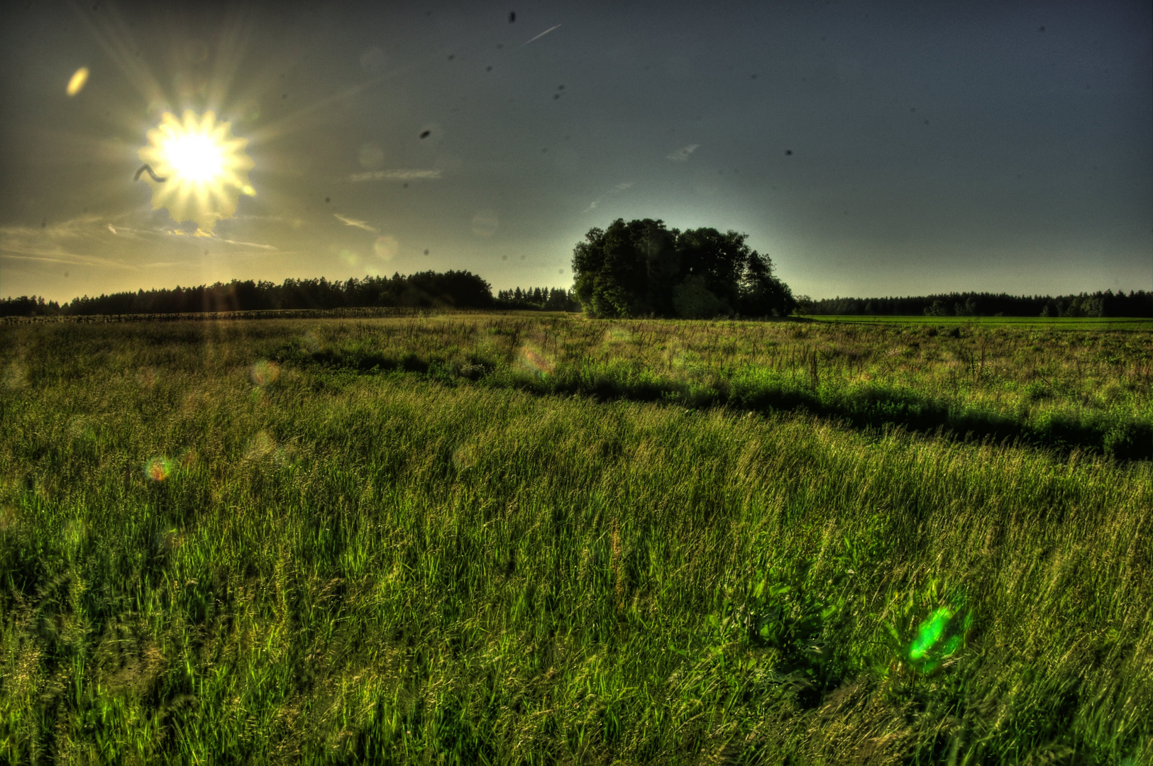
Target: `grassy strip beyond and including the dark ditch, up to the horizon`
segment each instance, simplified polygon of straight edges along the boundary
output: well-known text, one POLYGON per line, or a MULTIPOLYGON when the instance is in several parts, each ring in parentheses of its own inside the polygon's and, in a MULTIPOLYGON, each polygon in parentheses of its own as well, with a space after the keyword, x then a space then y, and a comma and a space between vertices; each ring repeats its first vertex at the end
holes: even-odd
POLYGON ((445 382, 804 410, 1153 457, 1153 332, 1008 326, 438 318, 318 325, 294 364, 445 382))

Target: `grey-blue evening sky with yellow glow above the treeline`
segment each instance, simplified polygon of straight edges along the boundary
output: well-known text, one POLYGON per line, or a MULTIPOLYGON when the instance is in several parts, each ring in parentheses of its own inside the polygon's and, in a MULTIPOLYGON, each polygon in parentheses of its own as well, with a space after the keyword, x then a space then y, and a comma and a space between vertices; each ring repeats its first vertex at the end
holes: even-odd
POLYGON ((25 0, 0 99, 0 296, 567 287, 617 218, 813 297, 1153 288, 1147 1, 25 0))

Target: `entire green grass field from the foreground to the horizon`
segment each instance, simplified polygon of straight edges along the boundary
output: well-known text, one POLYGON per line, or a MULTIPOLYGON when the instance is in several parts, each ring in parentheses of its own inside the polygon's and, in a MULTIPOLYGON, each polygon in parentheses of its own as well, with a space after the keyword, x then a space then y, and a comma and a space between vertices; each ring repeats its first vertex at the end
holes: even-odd
POLYGON ((1147 764, 1153 333, 0 328, 0 760, 1147 764))

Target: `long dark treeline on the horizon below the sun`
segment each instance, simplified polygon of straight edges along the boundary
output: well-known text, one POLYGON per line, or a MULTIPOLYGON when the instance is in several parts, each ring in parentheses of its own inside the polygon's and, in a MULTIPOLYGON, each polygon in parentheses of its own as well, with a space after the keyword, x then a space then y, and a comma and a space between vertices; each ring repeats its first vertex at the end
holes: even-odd
POLYGON ((420 272, 408 276, 366 276, 348 281, 287 279, 280 285, 233 280, 199 287, 175 287, 73 298, 63 305, 37 296, 0 301, 0 316, 198 313, 277 309, 408 306, 488 309, 491 286, 467 271, 420 272))

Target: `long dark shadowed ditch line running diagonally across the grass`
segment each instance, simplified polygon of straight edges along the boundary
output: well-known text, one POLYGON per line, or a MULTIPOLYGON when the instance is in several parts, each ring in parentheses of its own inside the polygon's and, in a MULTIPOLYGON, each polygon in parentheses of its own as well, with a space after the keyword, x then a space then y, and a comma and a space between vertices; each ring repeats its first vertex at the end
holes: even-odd
POLYGON ((664 402, 688 408, 731 407, 756 412, 806 412, 845 422, 857 428, 900 426, 911 432, 951 434, 960 440, 1019 441, 1064 454, 1080 449, 1118 460, 1153 458, 1153 424, 1136 418, 1052 416, 1027 423, 977 408, 957 407, 907 389, 880 386, 814 389, 785 379, 741 377, 699 385, 651 376, 621 379, 604 371, 581 369, 533 374, 480 359, 461 371, 455 370, 449 359, 421 358, 414 354, 393 357, 359 350, 309 354, 289 349, 276 358, 302 366, 318 365, 361 373, 417 373, 450 385, 475 382, 542 395, 575 394, 602 401, 664 402))

